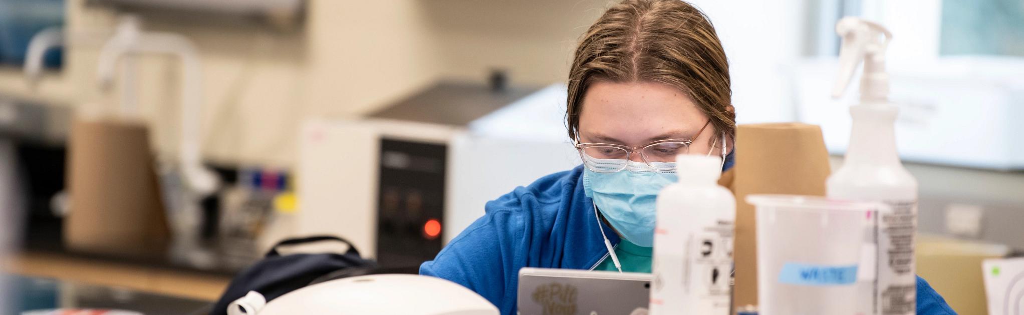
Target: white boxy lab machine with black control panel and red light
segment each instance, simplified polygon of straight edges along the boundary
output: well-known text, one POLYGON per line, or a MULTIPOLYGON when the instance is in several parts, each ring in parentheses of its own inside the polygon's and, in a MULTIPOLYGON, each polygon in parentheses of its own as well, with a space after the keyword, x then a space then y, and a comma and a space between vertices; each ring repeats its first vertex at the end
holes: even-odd
POLYGON ((337 234, 382 266, 431 260, 484 205, 580 164, 564 85, 442 82, 364 119, 301 131, 294 234, 337 234))

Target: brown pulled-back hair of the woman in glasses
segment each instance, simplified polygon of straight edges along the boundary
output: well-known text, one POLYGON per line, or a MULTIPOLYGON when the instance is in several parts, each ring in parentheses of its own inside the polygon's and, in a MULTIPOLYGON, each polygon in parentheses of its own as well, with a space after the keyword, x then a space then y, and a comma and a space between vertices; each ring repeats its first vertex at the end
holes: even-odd
POLYGON ((715 130, 729 138, 735 133, 722 43, 708 16, 684 1, 625 0, 587 30, 569 70, 565 120, 573 139, 584 94, 594 81, 647 81, 679 88, 708 115, 715 130))

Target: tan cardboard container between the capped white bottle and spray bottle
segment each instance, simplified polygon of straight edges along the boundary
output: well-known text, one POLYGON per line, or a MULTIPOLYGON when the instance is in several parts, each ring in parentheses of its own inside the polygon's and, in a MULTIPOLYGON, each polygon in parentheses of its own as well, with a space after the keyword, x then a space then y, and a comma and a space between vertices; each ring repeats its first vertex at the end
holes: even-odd
POLYGON ((757 235, 746 195, 824 195, 828 151, 821 129, 805 124, 757 124, 736 128, 734 167, 719 183, 736 195, 736 282, 733 304, 758 305, 757 235))

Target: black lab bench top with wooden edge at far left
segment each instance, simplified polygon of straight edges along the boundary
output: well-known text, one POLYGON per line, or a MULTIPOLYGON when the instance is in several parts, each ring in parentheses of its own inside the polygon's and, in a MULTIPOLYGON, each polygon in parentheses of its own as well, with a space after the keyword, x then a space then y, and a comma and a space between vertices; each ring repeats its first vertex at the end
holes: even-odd
POLYGON ((59 220, 30 220, 22 252, 3 258, 0 272, 215 301, 234 274, 259 260, 252 244, 221 238, 147 258, 74 252, 62 238, 59 220))

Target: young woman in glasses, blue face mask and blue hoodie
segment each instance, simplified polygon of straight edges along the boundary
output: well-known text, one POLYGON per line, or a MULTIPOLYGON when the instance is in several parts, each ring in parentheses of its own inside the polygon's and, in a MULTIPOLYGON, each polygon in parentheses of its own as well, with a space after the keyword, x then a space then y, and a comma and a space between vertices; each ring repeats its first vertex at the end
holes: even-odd
MULTIPOLYGON (((675 155, 732 167, 730 98, 725 52, 703 13, 680 0, 612 6, 569 70, 568 135, 584 165, 487 202, 420 273, 515 314, 522 267, 650 272, 654 198, 677 180, 675 155)), ((954 313, 919 279, 918 314, 954 313)))

